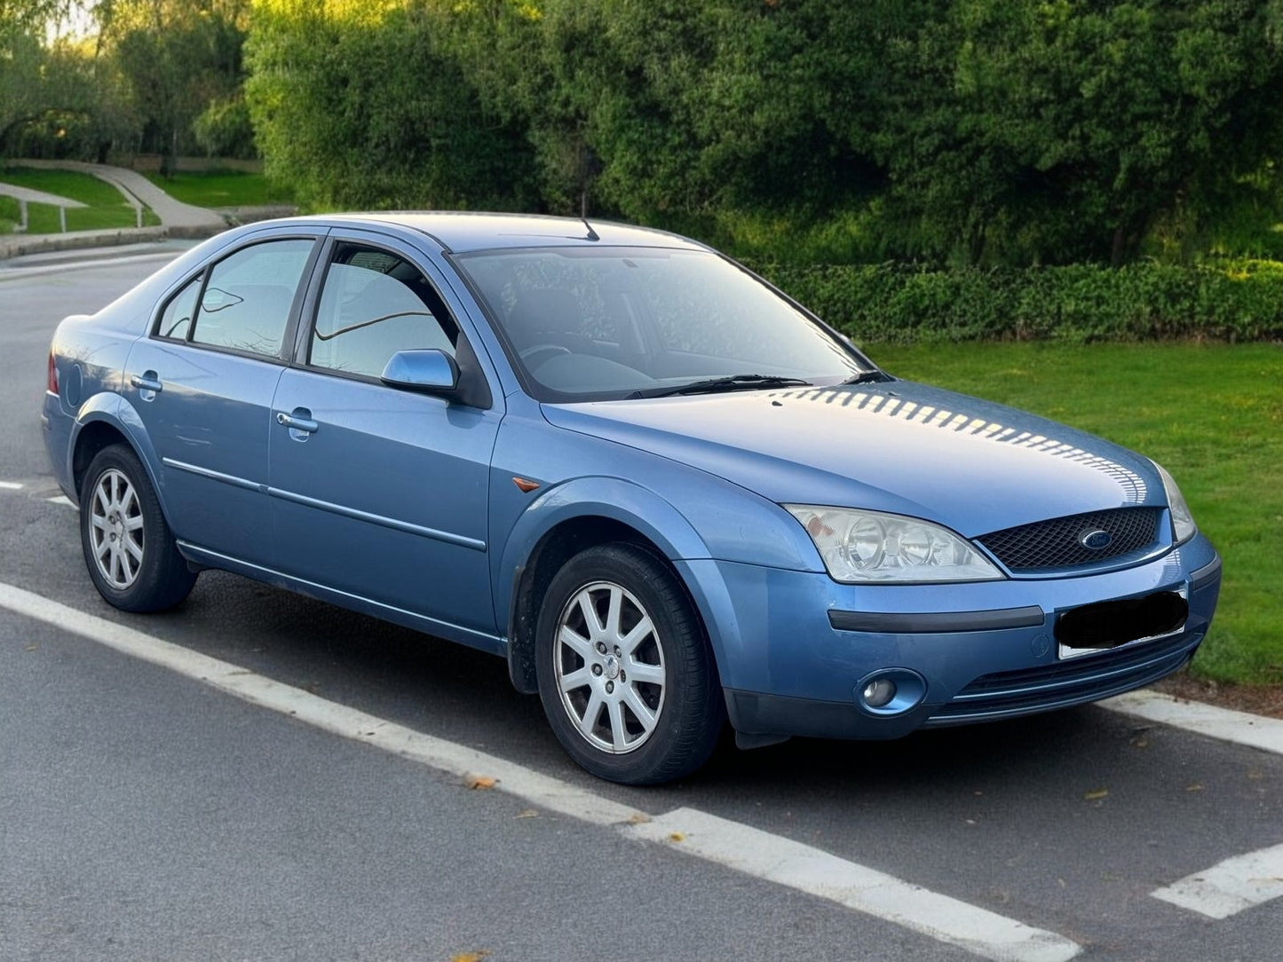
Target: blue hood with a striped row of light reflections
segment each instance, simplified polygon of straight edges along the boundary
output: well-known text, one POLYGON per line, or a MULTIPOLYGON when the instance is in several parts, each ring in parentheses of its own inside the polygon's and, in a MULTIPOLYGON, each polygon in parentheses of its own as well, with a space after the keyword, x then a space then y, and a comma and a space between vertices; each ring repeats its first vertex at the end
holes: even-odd
POLYGON ((1147 458, 1046 418, 908 381, 545 404, 544 416, 772 502, 924 517, 967 537, 1165 503, 1147 458))

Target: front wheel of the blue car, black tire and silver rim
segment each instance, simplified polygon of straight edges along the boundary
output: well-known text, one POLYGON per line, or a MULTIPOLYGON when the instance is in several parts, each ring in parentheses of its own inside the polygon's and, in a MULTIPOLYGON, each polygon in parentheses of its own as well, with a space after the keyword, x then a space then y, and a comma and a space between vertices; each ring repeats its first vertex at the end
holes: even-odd
POLYGON ((580 766, 653 785, 708 759, 725 721, 712 654, 650 552, 607 544, 571 558, 548 586, 535 637, 544 713, 580 766))

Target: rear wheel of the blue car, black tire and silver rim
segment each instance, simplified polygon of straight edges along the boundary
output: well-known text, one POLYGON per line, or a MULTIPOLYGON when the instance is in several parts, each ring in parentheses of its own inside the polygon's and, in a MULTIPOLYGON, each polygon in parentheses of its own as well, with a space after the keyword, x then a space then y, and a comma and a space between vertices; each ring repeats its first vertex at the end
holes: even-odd
POLYGON ((123 444, 100 450, 85 472, 81 546, 99 594, 127 612, 173 608, 196 581, 142 462, 123 444))

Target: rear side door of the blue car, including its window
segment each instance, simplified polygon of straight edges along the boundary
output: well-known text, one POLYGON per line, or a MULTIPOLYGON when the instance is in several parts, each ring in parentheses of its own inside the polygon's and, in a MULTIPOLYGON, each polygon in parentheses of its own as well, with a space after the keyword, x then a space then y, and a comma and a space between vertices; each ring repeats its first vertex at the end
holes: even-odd
POLYGON ((272 563, 272 395, 319 237, 267 233, 187 278, 135 342, 122 391, 142 422, 174 536, 272 563))

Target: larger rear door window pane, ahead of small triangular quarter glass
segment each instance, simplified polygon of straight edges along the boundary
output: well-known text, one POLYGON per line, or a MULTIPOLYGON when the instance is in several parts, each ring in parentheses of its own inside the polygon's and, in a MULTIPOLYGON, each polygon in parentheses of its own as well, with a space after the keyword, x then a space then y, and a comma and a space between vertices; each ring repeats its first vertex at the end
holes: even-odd
POLYGON ((191 340, 277 357, 312 246, 310 240, 268 241, 214 264, 191 340))

